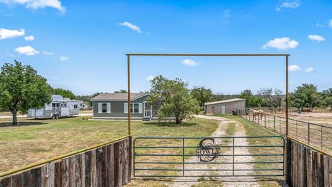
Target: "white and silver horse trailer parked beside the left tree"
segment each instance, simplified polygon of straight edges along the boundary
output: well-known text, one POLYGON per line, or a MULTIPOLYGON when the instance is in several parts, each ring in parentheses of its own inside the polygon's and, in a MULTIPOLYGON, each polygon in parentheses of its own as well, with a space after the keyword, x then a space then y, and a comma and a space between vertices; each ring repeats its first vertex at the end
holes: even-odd
POLYGON ((71 100, 60 95, 52 95, 52 102, 42 109, 29 109, 28 118, 46 119, 63 118, 80 114, 82 100, 71 100))

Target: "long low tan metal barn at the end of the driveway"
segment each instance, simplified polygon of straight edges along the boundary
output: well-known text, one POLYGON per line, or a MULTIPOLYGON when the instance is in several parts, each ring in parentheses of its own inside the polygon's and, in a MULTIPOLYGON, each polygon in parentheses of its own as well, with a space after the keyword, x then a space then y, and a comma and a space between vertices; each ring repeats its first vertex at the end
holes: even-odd
POLYGON ((243 114, 246 109, 246 100, 234 98, 205 103, 205 114, 243 114))

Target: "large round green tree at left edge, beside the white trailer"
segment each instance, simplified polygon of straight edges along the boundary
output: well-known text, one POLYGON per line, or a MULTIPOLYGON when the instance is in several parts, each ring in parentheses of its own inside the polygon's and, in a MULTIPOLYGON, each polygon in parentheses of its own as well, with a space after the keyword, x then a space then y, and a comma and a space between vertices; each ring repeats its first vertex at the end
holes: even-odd
POLYGON ((39 109, 51 101, 51 87, 46 78, 32 66, 5 63, 0 73, 0 110, 12 113, 12 125, 17 125, 17 112, 39 109))

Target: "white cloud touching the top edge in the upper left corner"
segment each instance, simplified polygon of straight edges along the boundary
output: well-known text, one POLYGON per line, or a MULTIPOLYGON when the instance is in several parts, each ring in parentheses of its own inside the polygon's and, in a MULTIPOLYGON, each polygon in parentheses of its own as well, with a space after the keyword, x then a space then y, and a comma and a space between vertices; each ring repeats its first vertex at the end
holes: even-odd
POLYGON ((26 8, 33 8, 37 10, 38 8, 55 8, 60 12, 65 12, 66 8, 61 5, 59 0, 0 0, 1 3, 6 4, 20 4, 25 5, 26 8))

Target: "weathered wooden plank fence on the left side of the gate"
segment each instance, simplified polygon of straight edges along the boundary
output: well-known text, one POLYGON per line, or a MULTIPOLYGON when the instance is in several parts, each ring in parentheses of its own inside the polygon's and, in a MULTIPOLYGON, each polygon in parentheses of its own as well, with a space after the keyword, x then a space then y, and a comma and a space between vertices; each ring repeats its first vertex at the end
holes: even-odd
POLYGON ((131 181, 131 137, 0 179, 0 187, 123 186, 131 181))

